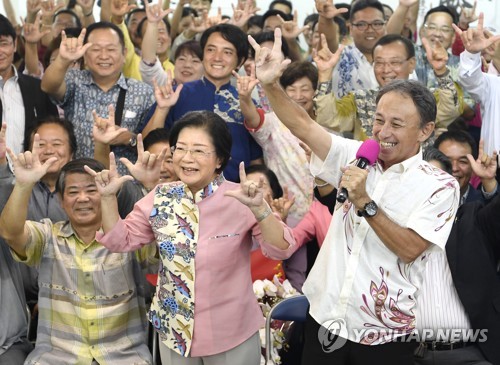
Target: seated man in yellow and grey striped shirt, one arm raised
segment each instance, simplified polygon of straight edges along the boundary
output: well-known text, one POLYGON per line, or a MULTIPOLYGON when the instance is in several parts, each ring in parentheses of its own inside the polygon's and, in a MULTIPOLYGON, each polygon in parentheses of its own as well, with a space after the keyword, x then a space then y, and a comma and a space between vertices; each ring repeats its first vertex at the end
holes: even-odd
POLYGON ((112 253, 96 241, 101 197, 84 166, 104 167, 88 158, 67 163, 57 181, 69 221, 26 220, 34 184, 57 160, 41 163, 39 144, 35 135, 32 152, 9 151, 16 184, 0 216, 14 258, 39 270, 37 342, 25 364, 151 364, 141 266, 156 247, 112 253))

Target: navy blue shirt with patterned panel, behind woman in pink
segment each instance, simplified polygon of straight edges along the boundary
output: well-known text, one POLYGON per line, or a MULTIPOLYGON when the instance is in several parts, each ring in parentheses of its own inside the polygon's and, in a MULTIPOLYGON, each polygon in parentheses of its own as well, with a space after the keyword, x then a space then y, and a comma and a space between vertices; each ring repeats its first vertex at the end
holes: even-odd
MULTIPOLYGON (((262 149, 244 126, 238 91, 230 83, 217 89, 205 77, 188 82, 184 84, 177 104, 170 109, 165 127, 171 128, 186 113, 199 110, 213 111, 227 123, 233 144, 231 159, 224 169, 224 176, 229 181, 239 181, 240 162, 243 161, 245 166, 248 166, 250 161, 262 157, 262 149)), ((146 119, 149 120, 153 113, 154 108, 146 119)))

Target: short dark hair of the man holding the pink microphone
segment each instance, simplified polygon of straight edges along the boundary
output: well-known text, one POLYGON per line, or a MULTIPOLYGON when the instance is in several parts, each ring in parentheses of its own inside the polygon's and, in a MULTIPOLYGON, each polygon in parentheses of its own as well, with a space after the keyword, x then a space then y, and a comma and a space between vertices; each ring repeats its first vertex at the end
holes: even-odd
POLYGON ((432 92, 420 81, 416 80, 394 80, 384 85, 377 94, 376 103, 382 96, 388 93, 397 93, 411 98, 417 108, 420 117, 420 128, 424 128, 429 122, 436 120, 436 98, 432 92))

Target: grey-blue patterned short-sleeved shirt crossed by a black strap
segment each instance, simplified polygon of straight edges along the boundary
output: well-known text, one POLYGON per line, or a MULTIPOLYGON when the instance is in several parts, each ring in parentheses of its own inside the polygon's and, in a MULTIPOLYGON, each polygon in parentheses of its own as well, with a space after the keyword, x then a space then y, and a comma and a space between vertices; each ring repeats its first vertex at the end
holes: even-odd
MULTIPOLYGON (((154 103, 154 94, 151 86, 120 76, 116 84, 107 92, 101 90, 92 79, 88 70, 68 70, 65 77, 66 94, 61 102, 64 115, 73 122, 78 149, 75 158, 94 157, 94 142, 92 140, 92 127, 94 119, 92 110, 101 117, 108 116, 108 107, 112 104, 116 108, 118 95, 121 89, 126 90, 125 104, 121 126, 137 133, 139 123, 144 119, 147 111, 154 103)), ((125 166, 119 163, 120 157, 126 157, 135 162, 137 151, 127 146, 113 148, 118 170, 121 174, 127 173, 125 166)))

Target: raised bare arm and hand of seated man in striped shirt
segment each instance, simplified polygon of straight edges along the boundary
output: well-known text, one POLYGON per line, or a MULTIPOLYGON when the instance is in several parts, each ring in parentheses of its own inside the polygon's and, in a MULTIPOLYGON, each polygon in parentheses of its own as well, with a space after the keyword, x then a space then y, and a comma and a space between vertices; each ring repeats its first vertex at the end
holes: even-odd
POLYGON ((18 156, 10 149, 7 151, 16 171, 16 184, 0 216, 0 236, 19 256, 26 257, 28 231, 25 223, 31 192, 33 186, 47 173, 57 157, 51 157, 43 164, 40 163, 38 134, 34 136, 32 151, 20 153, 18 156))

